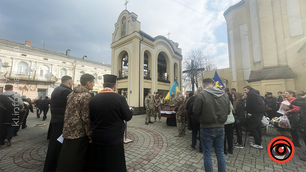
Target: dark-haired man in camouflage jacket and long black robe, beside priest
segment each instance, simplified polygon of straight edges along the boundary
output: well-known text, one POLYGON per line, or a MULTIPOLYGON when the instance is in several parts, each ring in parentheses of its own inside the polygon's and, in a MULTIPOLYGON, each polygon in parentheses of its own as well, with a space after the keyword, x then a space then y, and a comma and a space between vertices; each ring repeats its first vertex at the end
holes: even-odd
POLYGON ((80 84, 67 97, 64 117, 63 144, 56 171, 86 171, 92 122, 89 118, 90 90, 95 77, 85 73, 80 84))

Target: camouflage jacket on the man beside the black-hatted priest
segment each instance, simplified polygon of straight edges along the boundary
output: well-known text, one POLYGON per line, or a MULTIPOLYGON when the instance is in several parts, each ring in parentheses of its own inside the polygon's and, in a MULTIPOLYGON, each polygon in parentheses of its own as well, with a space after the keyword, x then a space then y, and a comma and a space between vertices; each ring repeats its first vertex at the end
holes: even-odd
POLYGON ((77 139, 87 135, 91 139, 92 122, 89 119, 89 102, 91 99, 90 91, 80 84, 67 96, 63 128, 64 138, 77 139))

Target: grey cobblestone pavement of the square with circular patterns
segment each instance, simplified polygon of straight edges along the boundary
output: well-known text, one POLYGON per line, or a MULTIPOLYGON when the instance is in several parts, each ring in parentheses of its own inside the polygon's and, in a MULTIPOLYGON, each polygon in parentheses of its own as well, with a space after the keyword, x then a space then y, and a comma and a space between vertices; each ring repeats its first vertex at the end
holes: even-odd
MULTIPOLYGON (((144 115, 133 116, 128 122, 128 138, 132 143, 125 144, 125 159, 129 172, 202 172, 203 155, 190 148, 191 133, 183 137, 175 137, 177 127, 166 125, 166 118, 162 122, 145 125, 144 115)), ((50 123, 50 112, 47 120, 36 118, 30 113, 27 120, 28 127, 20 129, 18 136, 13 137, 11 147, 5 145, 0 148, 0 171, 42 171, 46 157, 48 140, 47 131, 50 123), (34 127, 36 124, 46 124, 34 127)), ((188 131, 188 130, 187 130, 188 131)), ((245 133, 245 132, 243 132, 245 133)), ((263 135, 263 150, 251 148, 249 143, 253 139, 247 138, 246 147, 234 148, 233 154, 225 155, 227 171, 306 171, 306 163, 300 160, 305 156, 304 141, 300 140, 301 148, 295 148, 293 158, 287 163, 275 163, 267 153, 269 142, 280 134, 269 128, 263 135)), ((236 138, 236 136, 234 136, 236 138)), ((235 141, 235 139, 234 139, 235 141)), ((199 142, 197 143, 199 144, 199 142)), ((217 171, 217 159, 213 150, 212 161, 214 171, 217 171)))

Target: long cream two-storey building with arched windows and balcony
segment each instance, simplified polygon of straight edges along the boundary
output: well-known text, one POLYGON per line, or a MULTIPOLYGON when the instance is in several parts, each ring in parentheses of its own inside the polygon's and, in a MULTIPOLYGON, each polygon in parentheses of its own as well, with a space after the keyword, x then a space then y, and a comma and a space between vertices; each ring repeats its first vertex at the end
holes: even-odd
POLYGON ((98 93, 103 89, 103 75, 110 74, 111 71, 110 65, 87 60, 87 57, 83 59, 70 56, 70 50, 67 50, 66 54, 61 54, 26 46, 0 39, 0 91, 3 87, 4 92, 6 84, 12 84, 14 91, 31 99, 40 96, 50 97, 54 88, 61 84, 62 76, 71 76, 76 86, 80 84, 81 74, 89 73, 96 77, 92 92, 98 93), (32 70, 33 65, 38 69, 32 70), (32 84, 35 91, 24 90, 25 84, 27 88, 32 84))

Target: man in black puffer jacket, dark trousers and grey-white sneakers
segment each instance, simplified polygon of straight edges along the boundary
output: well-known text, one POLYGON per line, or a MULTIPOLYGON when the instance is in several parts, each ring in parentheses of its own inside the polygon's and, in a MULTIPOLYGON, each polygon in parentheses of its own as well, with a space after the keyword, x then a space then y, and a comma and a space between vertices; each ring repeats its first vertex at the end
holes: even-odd
POLYGON ((255 142, 250 143, 253 148, 263 149, 261 145, 261 120, 263 114, 266 112, 266 107, 258 90, 251 86, 245 86, 243 91, 247 93, 246 110, 248 114, 248 128, 251 135, 254 137, 255 142))

